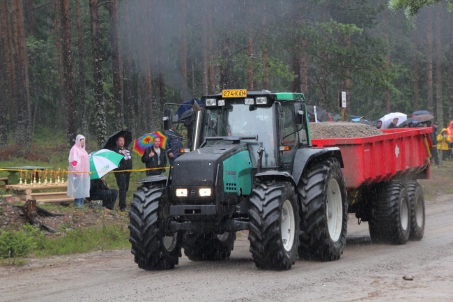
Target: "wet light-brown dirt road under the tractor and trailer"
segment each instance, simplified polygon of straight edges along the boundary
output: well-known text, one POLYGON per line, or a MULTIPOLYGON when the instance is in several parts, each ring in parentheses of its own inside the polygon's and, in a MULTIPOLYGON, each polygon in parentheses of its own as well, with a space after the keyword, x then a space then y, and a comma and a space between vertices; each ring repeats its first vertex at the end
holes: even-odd
POLYGON ((372 244, 350 216, 339 261, 291 271, 255 269, 245 235, 229 260, 183 257, 174 271, 141 271, 128 250, 32 259, 0 267, 0 301, 453 301, 452 234, 453 195, 440 195, 427 202, 424 239, 404 246, 372 244))

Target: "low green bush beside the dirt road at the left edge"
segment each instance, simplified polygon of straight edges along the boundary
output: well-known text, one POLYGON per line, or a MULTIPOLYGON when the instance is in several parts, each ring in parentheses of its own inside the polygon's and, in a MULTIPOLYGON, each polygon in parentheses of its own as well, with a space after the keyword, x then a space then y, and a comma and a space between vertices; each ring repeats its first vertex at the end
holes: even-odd
POLYGON ((31 225, 24 225, 16 232, 0 230, 0 259, 26 257, 36 249, 40 239, 43 239, 43 236, 39 229, 31 225))

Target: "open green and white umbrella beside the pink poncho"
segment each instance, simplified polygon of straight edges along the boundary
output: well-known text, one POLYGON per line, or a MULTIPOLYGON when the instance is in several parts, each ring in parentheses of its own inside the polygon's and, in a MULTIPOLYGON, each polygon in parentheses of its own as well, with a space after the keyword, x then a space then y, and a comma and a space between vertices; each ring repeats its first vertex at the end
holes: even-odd
POLYGON ((89 154, 90 160, 90 179, 100 179, 107 172, 116 169, 124 158, 123 154, 112 150, 102 149, 89 154))

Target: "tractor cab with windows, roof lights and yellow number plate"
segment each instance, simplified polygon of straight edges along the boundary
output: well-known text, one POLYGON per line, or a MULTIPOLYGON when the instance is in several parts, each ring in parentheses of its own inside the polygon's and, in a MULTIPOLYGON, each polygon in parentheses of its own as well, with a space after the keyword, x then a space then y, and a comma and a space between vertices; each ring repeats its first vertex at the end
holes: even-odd
POLYGON ((253 167, 261 157, 263 169, 289 169, 295 149, 309 145, 302 93, 224 90, 201 100, 201 146, 245 142, 253 167))

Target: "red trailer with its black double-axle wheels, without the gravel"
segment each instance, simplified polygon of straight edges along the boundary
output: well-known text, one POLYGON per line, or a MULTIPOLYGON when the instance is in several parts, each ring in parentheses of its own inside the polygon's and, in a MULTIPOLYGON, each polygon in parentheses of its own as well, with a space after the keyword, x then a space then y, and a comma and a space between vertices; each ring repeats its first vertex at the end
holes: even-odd
POLYGON ((312 139, 314 147, 339 147, 348 211, 369 222, 374 242, 422 239, 424 199, 417 179, 430 178, 431 131, 405 128, 371 137, 312 139))

